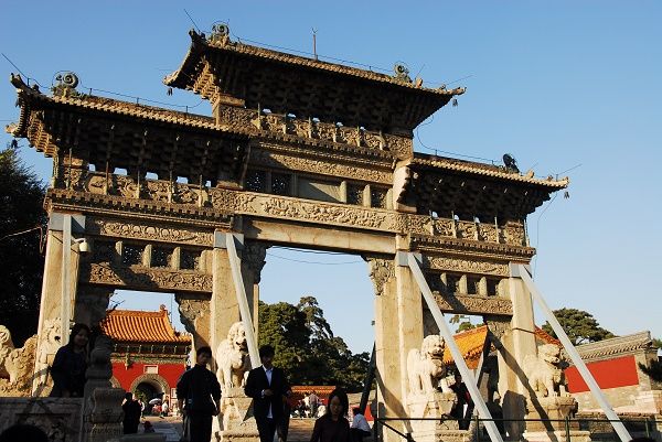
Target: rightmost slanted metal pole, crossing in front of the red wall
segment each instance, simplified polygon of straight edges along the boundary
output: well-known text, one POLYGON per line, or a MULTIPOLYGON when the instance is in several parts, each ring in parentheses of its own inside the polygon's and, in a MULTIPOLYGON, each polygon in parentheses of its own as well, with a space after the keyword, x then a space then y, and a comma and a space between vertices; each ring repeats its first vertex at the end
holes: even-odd
POLYGON ((579 353, 570 342, 568 335, 565 333, 565 331, 554 316, 554 313, 545 302, 543 294, 537 290, 537 287, 535 287, 531 274, 528 274, 528 270, 526 270, 526 268, 522 265, 511 265, 511 273, 513 273, 513 277, 519 277, 522 279, 522 281, 524 281, 524 284, 526 284, 526 288, 533 295, 533 299, 538 302, 541 310, 547 317, 547 321, 549 322, 549 325, 552 325, 554 333, 556 333, 556 337, 558 337, 558 341, 560 341, 560 343, 565 347, 566 352, 568 353, 568 356, 570 356, 570 359, 575 364, 575 367, 577 367, 577 370, 581 375, 581 378, 584 378, 584 381, 586 382, 586 385, 588 385, 590 392, 592 394, 594 398, 596 398, 598 405, 605 412, 605 416, 607 416, 607 419, 609 419, 609 421, 611 422, 611 425, 613 427, 613 430, 616 431, 620 440, 622 442, 630 441, 632 436, 626 429, 626 425, 623 425, 621 420, 618 418, 616 412, 613 412, 613 409, 607 401, 607 398, 602 394, 602 390, 598 386, 598 382, 596 382, 596 379, 592 377, 592 375, 586 367, 586 364, 584 363, 584 360, 581 360, 581 356, 579 356, 579 353))

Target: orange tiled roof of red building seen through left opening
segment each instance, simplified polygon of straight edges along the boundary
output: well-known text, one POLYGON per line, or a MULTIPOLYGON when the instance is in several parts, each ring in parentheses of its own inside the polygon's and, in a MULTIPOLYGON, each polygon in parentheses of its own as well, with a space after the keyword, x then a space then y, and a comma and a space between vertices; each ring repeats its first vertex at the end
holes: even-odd
POLYGON ((191 336, 175 332, 161 305, 158 312, 137 310, 110 310, 102 323, 102 330, 115 342, 190 343, 191 336))

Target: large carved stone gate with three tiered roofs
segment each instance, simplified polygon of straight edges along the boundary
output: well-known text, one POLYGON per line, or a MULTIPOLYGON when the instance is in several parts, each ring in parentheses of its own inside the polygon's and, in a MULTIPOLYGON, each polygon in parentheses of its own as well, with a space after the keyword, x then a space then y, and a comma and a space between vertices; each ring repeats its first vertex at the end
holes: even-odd
POLYGON ((195 346, 215 348, 239 320, 225 233, 244 241, 255 325, 269 246, 356 254, 375 287, 381 416, 406 417, 407 352, 436 332, 395 261, 417 251, 441 311, 482 315, 501 342, 504 408, 523 417, 534 325, 509 263, 531 260, 526 216, 567 179, 415 153, 413 130, 465 89, 232 42, 225 28, 191 39, 164 83, 210 100, 213 117, 85 95, 66 78, 46 96, 12 77, 21 115, 8 130, 53 158, 40 328, 98 322, 117 288, 167 291, 195 346))

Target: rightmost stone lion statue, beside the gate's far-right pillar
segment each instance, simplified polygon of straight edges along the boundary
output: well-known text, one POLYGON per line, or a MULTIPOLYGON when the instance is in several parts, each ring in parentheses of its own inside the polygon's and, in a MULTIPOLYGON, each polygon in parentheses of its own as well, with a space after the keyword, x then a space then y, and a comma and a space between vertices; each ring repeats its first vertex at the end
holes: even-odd
POLYGON ((560 347, 545 344, 538 347, 538 355, 524 358, 524 374, 528 385, 538 398, 568 396, 565 376, 563 375, 560 347))

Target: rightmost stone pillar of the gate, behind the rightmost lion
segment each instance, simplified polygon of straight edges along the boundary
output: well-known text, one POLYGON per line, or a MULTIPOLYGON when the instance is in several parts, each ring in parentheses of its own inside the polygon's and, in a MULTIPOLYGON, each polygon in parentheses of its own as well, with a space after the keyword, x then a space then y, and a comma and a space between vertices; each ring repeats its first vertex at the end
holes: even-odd
MULTIPOLYGON (((510 331, 501 342, 500 351, 500 391, 503 391, 503 414, 505 419, 524 419, 526 401, 530 400, 528 381, 522 369, 527 355, 537 354, 535 343, 535 324, 533 319, 533 300, 520 278, 509 279, 510 298, 513 304, 513 316, 510 331)), ((506 431, 511 439, 523 434, 523 422, 506 422, 506 431)))

